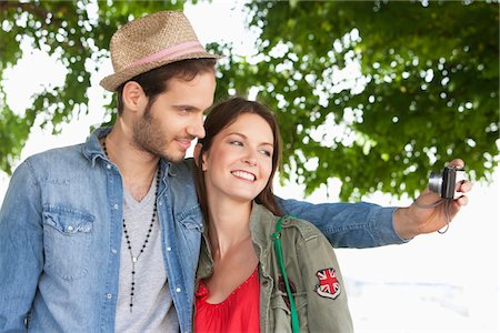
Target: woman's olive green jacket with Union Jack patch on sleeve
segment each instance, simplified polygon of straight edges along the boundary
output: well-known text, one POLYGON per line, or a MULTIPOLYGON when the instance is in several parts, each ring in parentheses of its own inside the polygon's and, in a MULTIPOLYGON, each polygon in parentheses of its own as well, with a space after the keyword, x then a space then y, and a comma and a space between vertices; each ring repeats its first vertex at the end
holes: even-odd
MULTIPOLYGON (((253 203, 250 231, 259 258, 261 332, 291 332, 289 301, 271 240, 278 220, 253 203)), ((301 332, 353 332, 343 279, 328 240, 311 223, 286 218, 281 241, 301 332)), ((208 236, 203 235, 197 280, 209 276, 211 270, 208 236)))

